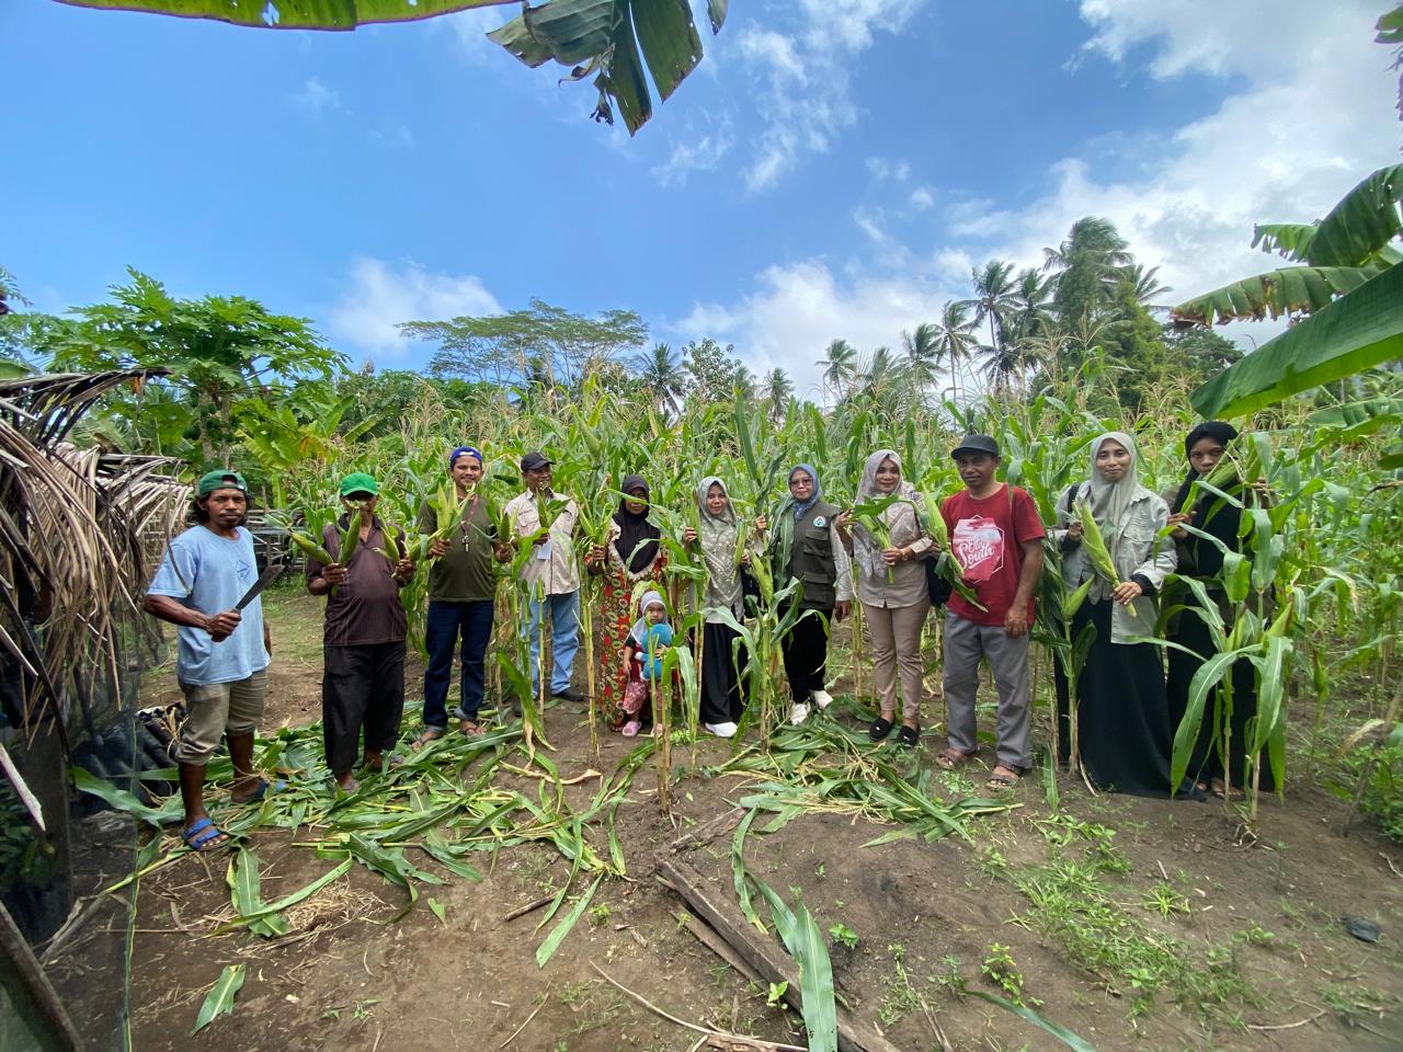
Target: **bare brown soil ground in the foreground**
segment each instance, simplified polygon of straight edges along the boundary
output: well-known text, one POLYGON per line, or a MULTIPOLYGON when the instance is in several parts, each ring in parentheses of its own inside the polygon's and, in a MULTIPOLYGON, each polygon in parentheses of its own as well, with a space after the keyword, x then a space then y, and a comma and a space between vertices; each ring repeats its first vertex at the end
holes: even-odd
MULTIPOLYGON (((278 593, 269 617, 278 649, 265 727, 316 721, 320 609, 278 593)), ((411 707, 418 675, 410 670, 411 707)), ((152 699, 170 694, 174 682, 156 673, 149 690, 152 699)), ((602 734, 595 759, 584 718, 565 708, 547 713, 561 776, 612 770, 627 750, 623 739, 602 734)), ((926 715, 922 743, 905 760, 913 770, 933 767, 944 743, 939 701, 927 701, 926 715)), ((854 711, 833 718, 859 720, 854 711)), ((707 739, 699 769, 730 752, 707 739)), ((686 762, 686 750, 675 749, 673 759, 686 762)), ((937 777, 946 790, 984 795, 982 769, 969 773, 978 780, 937 777)), ((669 844, 732 808, 745 783, 689 770, 675 787, 671 818, 659 814, 654 785, 651 773, 640 773, 617 822, 631 879, 600 886, 593 909, 544 969, 535 959, 544 937, 533 931, 540 913, 504 916, 565 879, 567 863, 546 846, 502 850, 481 882, 427 888, 398 919, 403 891, 352 867, 295 908, 295 933, 272 941, 246 933, 202 937, 215 919, 231 915, 227 856, 187 857, 159 870, 139 889, 133 1046, 696 1046, 699 1034, 647 1011, 591 965, 682 1020, 804 1044, 797 1014, 769 1006, 766 989, 683 929, 685 903, 654 878, 659 860, 678 858, 716 898, 735 902, 728 830, 680 851, 669 844), (427 906, 429 893, 443 908, 442 922, 427 906), (205 993, 231 962, 247 965, 233 1014, 191 1038, 205 993)), ((804 815, 773 833, 760 833, 756 822, 746 860, 786 898, 796 889, 825 931, 842 924, 856 936, 852 948, 833 941, 836 990, 860 1025, 901 1049, 940 1048, 933 1023, 954 1049, 1063 1046, 1007 1010, 962 996, 965 989, 1020 997, 1101 1052, 1403 1048, 1403 850, 1352 823, 1345 805, 1316 788, 1294 788, 1284 802, 1264 802, 1250 837, 1221 802, 1093 797, 1065 776, 1059 787, 1052 808, 1041 778, 1024 778, 1014 790, 1021 807, 976 821, 971 843, 946 837, 861 847, 887 829, 832 814, 804 815), (1058 906, 1044 898, 1049 888, 1052 899, 1070 901, 1073 916, 1080 916, 1079 895, 1082 905, 1101 903, 1097 919, 1080 926, 1080 943, 1076 931, 1054 923, 1058 906), (1374 920, 1382 938, 1351 937, 1345 915, 1374 920), (1117 954, 1087 950, 1117 938, 1125 943, 1120 962, 1117 954), (1174 948, 1188 966, 1169 978, 1163 969, 1136 972, 1153 954, 1142 959, 1135 947, 1174 948), (1141 1002, 1142 989, 1156 983, 1153 999, 1141 1002)), ((582 800, 592 788, 568 793, 582 800)), ((114 877, 104 829, 114 843, 123 836, 121 822, 94 826, 84 856, 94 886, 114 877)), ((309 843, 286 833, 258 833, 257 850, 268 901, 328 868, 309 843)), ((79 1018, 86 1003, 111 1004, 94 985, 119 982, 112 941, 123 934, 125 915, 114 906, 49 962, 79 1018)), ((109 1048, 116 1024, 94 1013, 91 1046, 109 1048)))

